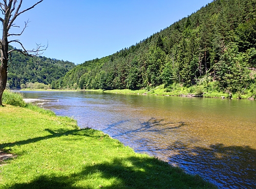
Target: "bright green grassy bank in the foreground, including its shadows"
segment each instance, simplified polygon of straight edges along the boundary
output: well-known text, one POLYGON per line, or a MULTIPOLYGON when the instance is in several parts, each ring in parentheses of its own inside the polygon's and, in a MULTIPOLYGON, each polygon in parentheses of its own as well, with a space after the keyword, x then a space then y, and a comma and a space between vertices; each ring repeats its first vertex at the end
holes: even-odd
POLYGON ((0 188, 216 188, 198 175, 137 154, 76 121, 28 105, 0 108, 0 188))

